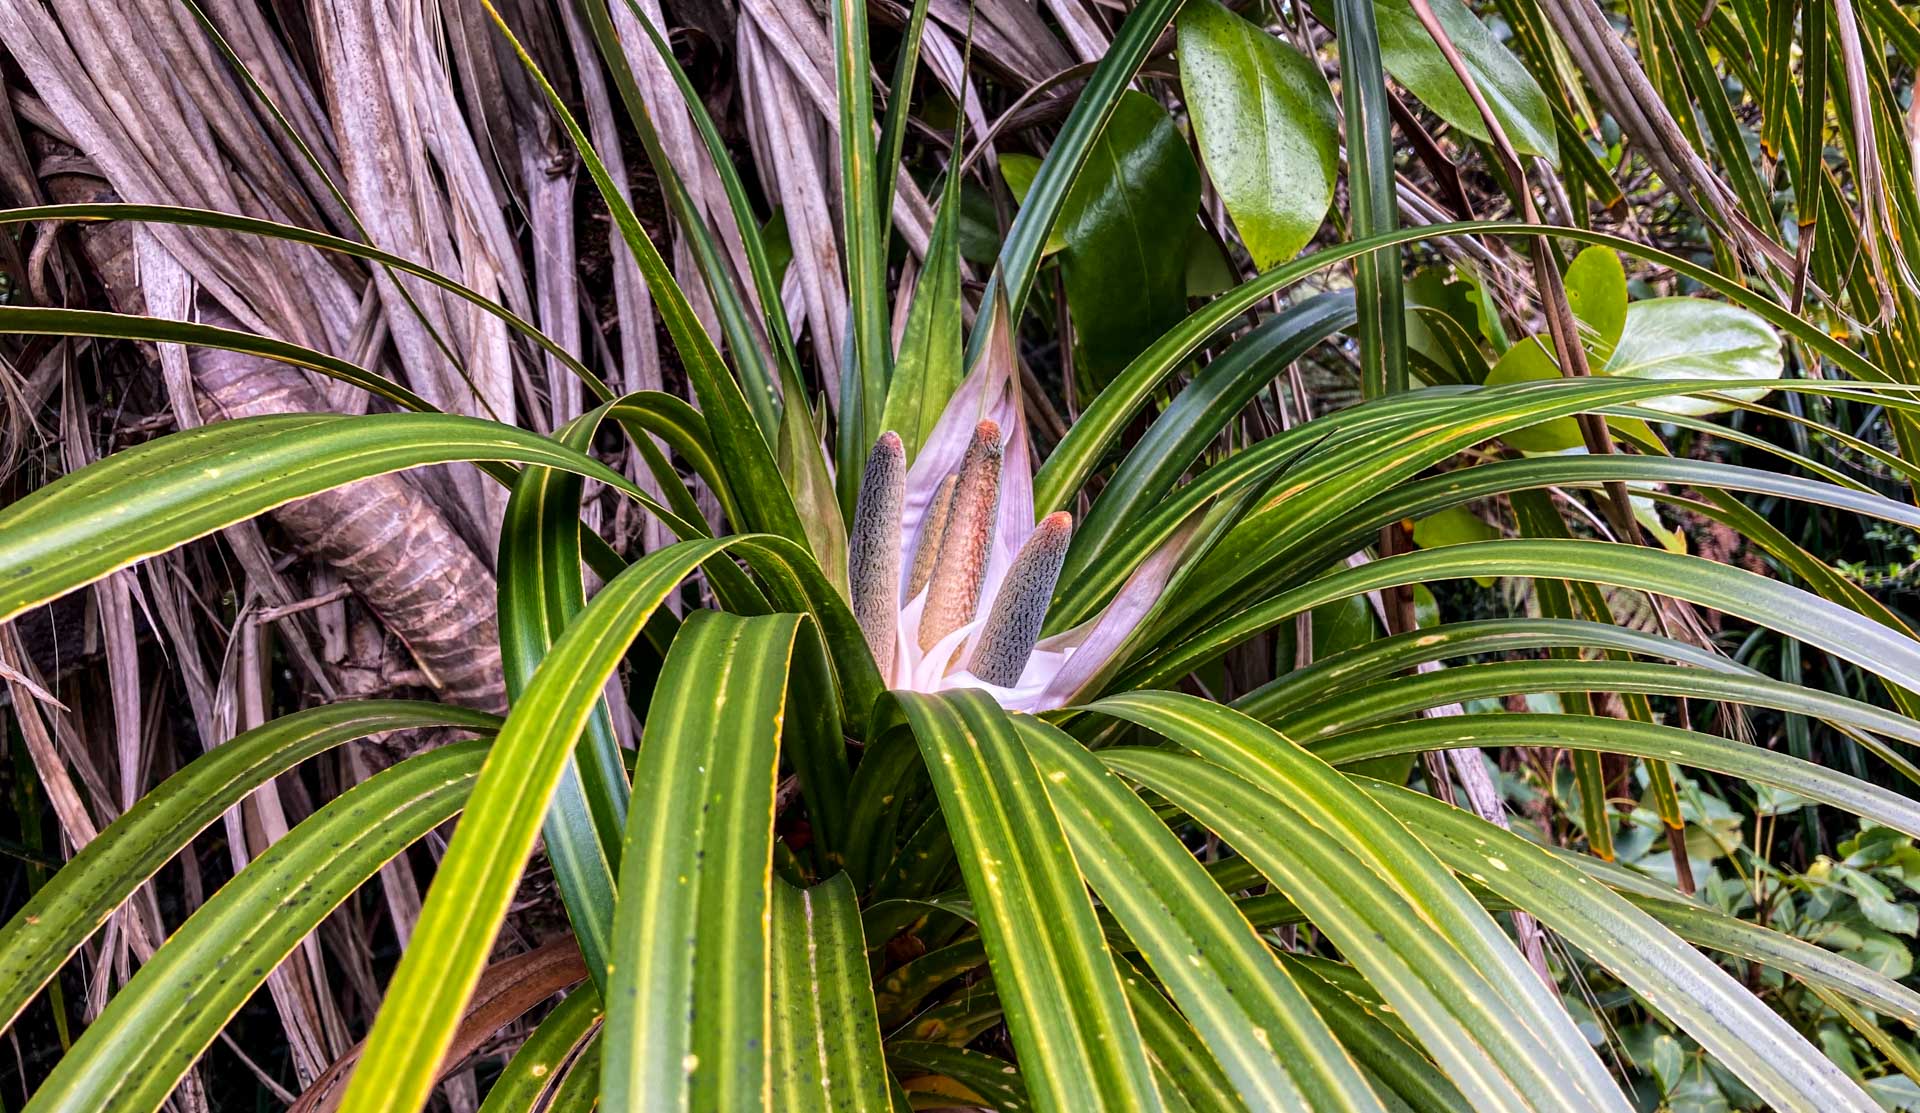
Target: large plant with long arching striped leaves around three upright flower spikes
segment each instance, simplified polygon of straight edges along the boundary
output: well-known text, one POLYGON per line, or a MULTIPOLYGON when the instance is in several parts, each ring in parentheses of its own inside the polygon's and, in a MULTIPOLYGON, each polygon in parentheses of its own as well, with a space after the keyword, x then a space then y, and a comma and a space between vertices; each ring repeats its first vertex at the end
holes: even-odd
MULTIPOLYGON (((1738 495, 1905 528, 1920 514, 1786 447, 1749 445, 1812 478, 1672 457, 1663 434, 1734 436, 1705 418, 1759 409, 1768 390, 1880 405, 1907 430, 1920 407, 1895 368, 1910 361, 1855 351, 1801 313, 1805 290, 1774 297, 1740 261, 1713 269, 1540 221, 1538 167, 1523 159, 1597 155, 1453 0, 1332 0, 1338 115, 1309 56, 1192 0, 1173 42, 1198 161, 1165 107, 1129 90, 1181 4, 1137 4, 1081 73, 1046 157, 995 167, 1021 178, 1020 209, 977 301, 962 271, 964 138, 947 152, 918 280, 895 284, 904 94, 927 8, 902 17, 897 96, 876 121, 866 8, 831 6, 847 342, 826 357, 816 345, 812 365, 795 349, 760 213, 649 15, 626 12, 672 71, 674 107, 726 200, 728 219, 708 223, 647 132, 666 106, 622 86, 697 288, 676 282, 611 152, 486 8, 645 278, 697 409, 660 390, 614 391, 490 296, 365 242, 184 205, 0 213, 213 228, 361 259, 394 290, 505 322, 595 399, 538 434, 442 413, 369 367, 244 328, 0 307, 15 334, 265 357, 399 411, 211 422, 33 491, 0 510, 0 622, 369 478, 470 462, 507 491, 493 560, 505 716, 405 700, 298 710, 140 796, 0 929, 0 1021, 278 773, 382 731, 478 735, 292 825, 157 944, 29 1109, 157 1109, 334 908, 455 816, 378 1017, 313 1105, 419 1109, 476 1027, 549 996, 509 1009, 497 1002, 513 994, 490 984, 516 887, 543 856, 580 963, 541 969, 580 984, 484 1109, 1628 1109, 1542 977, 1542 929, 1768 1105, 1876 1107, 1701 948, 1793 979, 1876 1048, 1893 1046, 1884 1019, 1920 1025, 1920 994, 1857 954, 1697 900, 1676 768, 1903 837, 1920 837, 1920 808, 1695 729, 1674 708, 1818 720, 1920 781, 1901 748, 1920 743, 1920 641, 1738 495), (1400 226, 1386 71, 1484 144, 1519 219, 1400 226), (1269 102, 1284 106, 1273 121, 1250 109, 1269 102), (1296 259, 1336 194, 1342 146, 1352 236, 1296 259), (1188 313, 1202 165, 1260 271, 1188 313), (1142 198, 1177 219, 1139 219, 1142 198), (1492 248, 1507 240, 1521 251, 1492 248), (722 244, 739 244, 737 267, 722 244), (1415 244, 1524 253, 1538 305, 1523 317, 1498 305, 1494 278, 1467 267, 1478 255, 1404 282, 1415 244), (1567 244, 1584 249, 1563 269, 1567 244), (1622 255, 1709 296, 1630 299, 1622 255), (1352 288, 1338 282, 1348 263, 1352 288), (1083 407, 1035 470, 1044 384, 1021 367, 1018 334, 1029 305, 1058 297, 1062 338, 1077 338, 1058 388, 1083 407), (1544 328, 1509 340, 1503 319, 1544 328), (1774 382, 1782 338, 1801 367, 1860 382, 1774 382), (1357 355, 1363 401, 1311 420, 1260 409, 1260 391, 1323 345, 1357 355), (818 411, 812 384, 828 399, 818 411), (1242 436, 1250 407, 1298 420, 1242 436), (607 430, 645 461, 645 484, 593 455, 607 430), (672 539, 616 551, 582 526, 588 482, 672 539), (1726 524, 1803 585, 1663 547, 1657 505, 1726 524), (1423 624, 1417 589, 1461 580, 1519 583, 1523 610, 1423 624), (1386 637, 1315 656, 1340 608, 1369 595, 1386 637), (1642 599, 1653 622, 1617 618, 1642 599), (1693 608, 1849 662, 1891 710, 1730 662, 1693 608), (1296 645, 1275 662, 1283 629, 1296 645), (1517 651, 1548 652, 1442 668, 1517 651), (1261 658, 1252 683, 1236 656, 1261 658), (1571 714, 1453 714, 1546 693, 1571 714), (639 723, 634 748, 620 743, 626 716, 639 723), (1586 854, 1507 829, 1478 754, 1507 746, 1572 754, 1586 854), (1427 791, 1407 787, 1413 754, 1428 758, 1427 791), (1615 862, 1601 754, 1638 760, 1678 887, 1615 862), (1455 794, 1473 810, 1446 802, 1455 794)), ((1523 48, 1544 42, 1526 13, 1509 17, 1523 48)), ((609 10, 584 15, 603 44, 616 36, 609 10)), ((246 73, 238 52, 228 61, 246 73)), ((267 83, 252 88, 273 104, 267 83)), ((326 177, 319 161, 305 169, 326 177)), ((1749 234, 1728 253, 1778 278, 1793 255, 1782 263, 1763 242, 1749 234)), ((1891 267, 1895 249, 1874 257, 1891 267)), ((440 342, 430 319, 422 332, 440 342)), ((1866 441, 1820 436, 1914 474, 1866 441)), ((1651 1069, 1670 1065, 1663 1054, 1647 1050, 1651 1069)))

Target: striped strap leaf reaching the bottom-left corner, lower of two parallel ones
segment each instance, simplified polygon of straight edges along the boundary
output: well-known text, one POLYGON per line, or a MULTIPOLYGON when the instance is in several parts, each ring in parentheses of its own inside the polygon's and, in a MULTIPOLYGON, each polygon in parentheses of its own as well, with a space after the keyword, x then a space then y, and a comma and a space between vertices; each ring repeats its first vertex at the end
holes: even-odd
MULTIPOLYGON (((486 750, 484 741, 470 741, 407 758, 348 789, 269 846, 154 952, 27 1107, 159 1109, 307 933, 380 865, 467 804, 486 750)), ((459 1009, 445 1023, 451 1034, 459 1009)), ((432 1086, 438 1065, 438 1055, 426 1063, 424 1086, 432 1086)))

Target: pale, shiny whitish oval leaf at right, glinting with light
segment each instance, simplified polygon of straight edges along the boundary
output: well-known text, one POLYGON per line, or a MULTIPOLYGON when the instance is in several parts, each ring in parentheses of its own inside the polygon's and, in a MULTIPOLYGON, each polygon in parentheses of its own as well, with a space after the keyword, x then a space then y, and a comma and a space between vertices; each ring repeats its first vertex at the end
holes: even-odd
MULTIPOLYGON (((1780 336, 1764 320, 1705 297, 1653 297, 1626 307, 1626 326, 1603 374, 1634 378, 1724 378, 1730 384, 1780 378, 1780 336)), ((1728 390, 1730 399, 1759 401, 1768 388, 1728 390)), ((1736 409, 1711 397, 1667 397, 1642 403, 1676 414, 1736 409)))

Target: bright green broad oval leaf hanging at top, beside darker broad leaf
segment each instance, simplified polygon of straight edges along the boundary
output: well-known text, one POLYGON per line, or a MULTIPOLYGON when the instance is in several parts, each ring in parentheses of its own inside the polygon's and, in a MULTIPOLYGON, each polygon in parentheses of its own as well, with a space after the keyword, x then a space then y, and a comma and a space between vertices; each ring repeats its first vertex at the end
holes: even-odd
POLYGON ((1265 271, 1306 248, 1332 203, 1340 119, 1319 65, 1213 0, 1179 17, 1181 88, 1208 177, 1265 271))

